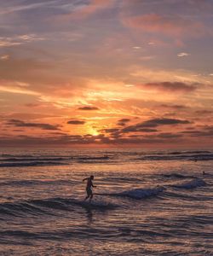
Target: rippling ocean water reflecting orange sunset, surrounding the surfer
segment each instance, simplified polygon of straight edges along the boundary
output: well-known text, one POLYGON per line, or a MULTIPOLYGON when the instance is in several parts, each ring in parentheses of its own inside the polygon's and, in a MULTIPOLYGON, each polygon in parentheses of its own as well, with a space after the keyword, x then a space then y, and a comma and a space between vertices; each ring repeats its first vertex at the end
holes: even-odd
POLYGON ((212 164, 211 150, 1 150, 0 255, 213 255, 212 164))

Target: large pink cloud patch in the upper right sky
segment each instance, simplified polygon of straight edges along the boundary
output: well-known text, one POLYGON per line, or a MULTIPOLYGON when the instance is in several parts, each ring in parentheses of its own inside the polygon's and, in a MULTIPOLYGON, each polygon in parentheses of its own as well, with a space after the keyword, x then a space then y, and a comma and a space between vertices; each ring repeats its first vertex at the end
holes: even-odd
POLYGON ((204 26, 198 21, 188 20, 175 15, 139 15, 123 17, 124 26, 141 29, 145 32, 160 33, 166 36, 201 36, 204 34, 204 26))

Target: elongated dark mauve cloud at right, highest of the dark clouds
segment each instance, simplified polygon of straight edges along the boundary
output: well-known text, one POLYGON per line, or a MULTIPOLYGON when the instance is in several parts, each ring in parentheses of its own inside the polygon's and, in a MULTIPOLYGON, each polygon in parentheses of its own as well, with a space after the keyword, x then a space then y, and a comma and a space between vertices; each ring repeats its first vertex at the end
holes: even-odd
POLYGON ((160 82, 160 83, 148 83, 141 84, 140 86, 143 89, 147 90, 161 90, 165 92, 191 92, 197 89, 197 83, 195 84, 186 84, 183 82, 160 82))

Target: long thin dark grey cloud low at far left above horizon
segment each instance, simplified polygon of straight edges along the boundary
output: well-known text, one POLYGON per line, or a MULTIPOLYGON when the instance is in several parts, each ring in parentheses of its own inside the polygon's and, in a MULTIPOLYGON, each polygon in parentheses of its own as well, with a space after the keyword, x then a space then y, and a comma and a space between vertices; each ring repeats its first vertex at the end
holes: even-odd
POLYGON ((60 130, 59 125, 49 125, 49 124, 39 124, 39 123, 26 123, 18 119, 10 119, 7 122, 8 125, 13 125, 15 127, 31 127, 31 128, 40 128, 43 130, 60 130))

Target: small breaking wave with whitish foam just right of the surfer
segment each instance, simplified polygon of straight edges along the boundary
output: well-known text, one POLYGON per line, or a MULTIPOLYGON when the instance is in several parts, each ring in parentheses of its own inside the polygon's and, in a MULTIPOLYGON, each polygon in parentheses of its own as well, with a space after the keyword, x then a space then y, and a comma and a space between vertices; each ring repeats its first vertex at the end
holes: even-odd
POLYGON ((131 189, 125 190, 120 193, 110 193, 110 194, 99 194, 99 195, 112 195, 112 196, 121 196, 129 197, 131 199, 141 200, 147 197, 157 196, 159 193, 164 191, 164 187, 157 187, 154 189, 131 189))

